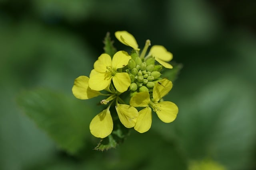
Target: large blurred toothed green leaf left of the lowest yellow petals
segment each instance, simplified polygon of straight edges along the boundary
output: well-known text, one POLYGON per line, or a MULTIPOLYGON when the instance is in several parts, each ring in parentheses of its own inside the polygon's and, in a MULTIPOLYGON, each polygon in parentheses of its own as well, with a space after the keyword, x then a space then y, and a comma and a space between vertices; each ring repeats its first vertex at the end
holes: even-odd
POLYGON ((22 92, 18 104, 61 149, 76 154, 85 147, 93 113, 90 107, 75 98, 46 89, 22 92))

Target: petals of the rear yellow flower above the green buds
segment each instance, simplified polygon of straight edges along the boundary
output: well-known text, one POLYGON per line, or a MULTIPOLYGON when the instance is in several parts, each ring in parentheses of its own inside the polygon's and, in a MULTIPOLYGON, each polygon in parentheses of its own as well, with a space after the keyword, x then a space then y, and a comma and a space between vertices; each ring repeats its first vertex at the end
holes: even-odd
MULTIPOLYGON (((127 31, 116 31, 116 38, 124 45, 130 46, 135 50, 138 49, 138 44, 134 36, 127 31)), ((166 50, 162 45, 153 45, 148 53, 148 56, 152 55, 156 61, 165 68, 172 68, 172 65, 167 63, 172 60, 172 53, 166 50)))

